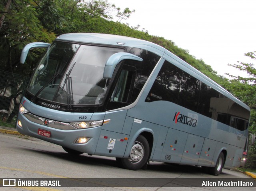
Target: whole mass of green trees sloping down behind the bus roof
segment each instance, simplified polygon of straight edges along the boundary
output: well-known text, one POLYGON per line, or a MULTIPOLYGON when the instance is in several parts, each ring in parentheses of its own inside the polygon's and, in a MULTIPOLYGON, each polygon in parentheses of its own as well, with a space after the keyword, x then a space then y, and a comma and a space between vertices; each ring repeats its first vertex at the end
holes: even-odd
MULTIPOLYGON (((0 2, 0 14, 5 16, 0 29, 0 66, 3 70, 31 75, 38 52, 32 52, 28 63, 19 64, 22 48, 30 42, 51 43, 56 36, 72 32, 95 32, 117 34, 148 40, 163 46, 176 54, 210 78, 222 82, 203 60, 197 60, 188 50, 178 48, 171 40, 151 36, 140 25, 130 27, 122 24, 135 10, 121 10, 107 0, 12 0, 8 11, 6 4, 9 0, 0 2), (114 22, 112 19, 117 18, 114 22)), ((225 81, 225 80, 224 80, 225 81)))

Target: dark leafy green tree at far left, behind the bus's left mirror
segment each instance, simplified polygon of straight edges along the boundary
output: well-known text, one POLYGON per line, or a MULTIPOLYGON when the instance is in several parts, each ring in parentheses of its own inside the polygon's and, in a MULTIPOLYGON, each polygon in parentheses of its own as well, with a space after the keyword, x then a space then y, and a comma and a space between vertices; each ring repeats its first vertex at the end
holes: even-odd
MULTIPOLYGON (((22 48, 30 42, 51 42, 55 38, 40 24, 33 4, 31 0, 13 0, 10 4, 0 30, 0 66, 3 70, 26 74, 24 71, 30 67, 17 68, 22 48)), ((0 5, 4 7, 3 3, 0 5)))

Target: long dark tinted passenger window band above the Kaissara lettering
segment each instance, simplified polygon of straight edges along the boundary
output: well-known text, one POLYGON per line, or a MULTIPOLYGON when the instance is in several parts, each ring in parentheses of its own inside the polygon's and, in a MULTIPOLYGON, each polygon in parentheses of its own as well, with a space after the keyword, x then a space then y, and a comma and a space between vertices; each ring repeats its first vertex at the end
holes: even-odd
POLYGON ((248 126, 250 111, 167 61, 145 101, 160 100, 176 103, 239 130, 248 126))

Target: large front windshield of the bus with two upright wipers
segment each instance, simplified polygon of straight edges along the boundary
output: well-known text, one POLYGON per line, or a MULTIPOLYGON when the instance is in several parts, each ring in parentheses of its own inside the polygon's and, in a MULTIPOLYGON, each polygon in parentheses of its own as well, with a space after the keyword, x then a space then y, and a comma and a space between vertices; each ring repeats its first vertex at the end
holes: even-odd
POLYGON ((107 59, 123 49, 54 42, 28 86, 34 98, 68 105, 101 104, 108 88, 107 59))

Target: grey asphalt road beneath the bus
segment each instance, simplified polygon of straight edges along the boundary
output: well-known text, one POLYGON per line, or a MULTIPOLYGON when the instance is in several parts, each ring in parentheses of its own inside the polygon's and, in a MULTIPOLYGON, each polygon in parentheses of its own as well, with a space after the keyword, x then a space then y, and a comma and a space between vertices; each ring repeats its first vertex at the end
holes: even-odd
MULTIPOLYGON (((32 191, 68 191, 68 190, 220 190, 220 187, 190 187, 189 179, 226 179, 248 178, 243 173, 223 169, 219 176, 212 176, 200 167, 187 165, 170 165, 166 163, 150 162, 147 170, 131 171, 122 169, 115 158, 102 156, 89 156, 82 154, 72 156, 62 147, 39 139, 21 135, 8 135, 0 133, 0 178, 93 178, 99 187, 0 187, 0 190, 32 190, 32 191), (184 178, 186 187, 101 187, 108 183, 99 183, 98 178, 158 178, 177 179, 184 178)), ((111 179, 109 179, 111 180, 111 179)), ((256 187, 224 187, 221 190, 256 190, 256 187)))

